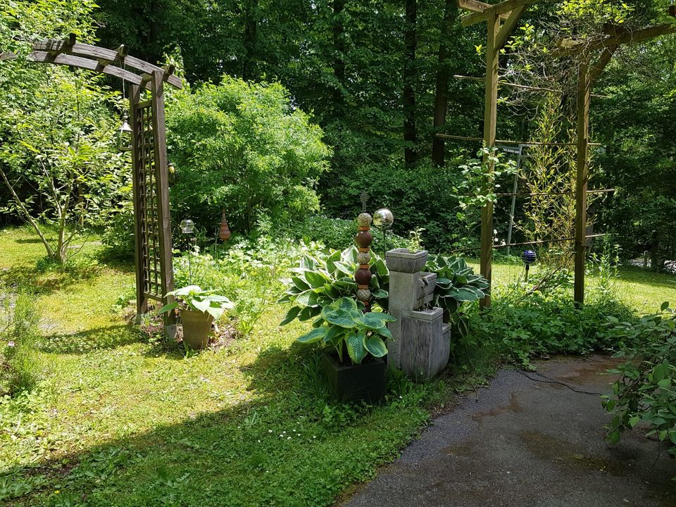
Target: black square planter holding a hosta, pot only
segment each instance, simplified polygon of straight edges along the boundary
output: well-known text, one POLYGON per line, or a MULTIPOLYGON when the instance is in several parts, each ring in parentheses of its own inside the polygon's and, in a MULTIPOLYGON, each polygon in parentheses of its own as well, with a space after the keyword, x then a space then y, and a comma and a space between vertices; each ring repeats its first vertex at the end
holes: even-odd
POLYGON ((385 363, 380 358, 345 366, 339 364, 337 358, 325 354, 322 373, 338 401, 379 403, 385 395, 385 363))

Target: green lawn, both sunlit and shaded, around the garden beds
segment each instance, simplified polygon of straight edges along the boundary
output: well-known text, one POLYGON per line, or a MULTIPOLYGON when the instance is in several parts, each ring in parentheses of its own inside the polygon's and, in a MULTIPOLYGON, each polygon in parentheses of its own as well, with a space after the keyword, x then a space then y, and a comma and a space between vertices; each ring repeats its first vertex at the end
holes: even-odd
MULTIPOLYGON (((0 399, 9 506, 328 505, 463 381, 394 377, 382 406, 336 406, 316 382, 317 353, 294 343, 304 327, 277 327, 286 308, 270 306, 247 339, 185 357, 123 320, 128 266, 38 273, 42 255, 27 230, 0 232, 1 282, 39 289, 44 336, 38 389, 0 399)), ((519 270, 496 265, 496 281, 519 270)), ((676 300, 675 280, 632 268, 619 283, 642 309, 676 300)))

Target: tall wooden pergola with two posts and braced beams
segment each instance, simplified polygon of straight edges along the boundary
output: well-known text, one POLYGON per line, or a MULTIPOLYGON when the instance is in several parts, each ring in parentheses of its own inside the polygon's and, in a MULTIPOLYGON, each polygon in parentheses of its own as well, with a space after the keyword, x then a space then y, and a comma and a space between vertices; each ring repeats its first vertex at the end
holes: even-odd
MULTIPOLYGON (((499 4, 485 4, 477 0, 457 0, 458 7, 467 11, 462 20, 463 26, 486 23, 488 29, 486 45, 486 77, 484 99, 484 137, 485 146, 496 146, 496 118, 499 80, 499 55, 511 33, 518 25, 528 6, 539 0, 505 0, 499 4)), ((675 6, 669 14, 676 16, 675 6)), ((621 25, 606 25, 604 36, 596 42, 564 39, 558 42, 553 57, 578 56, 580 68, 577 84, 577 177, 575 187, 575 301, 584 303, 584 263, 587 256, 587 182, 589 181, 589 105, 592 88, 603 69, 610 63, 613 54, 622 44, 641 42, 661 35, 676 32, 671 24, 647 27, 644 30, 629 31, 621 25)), ((518 85, 523 88, 538 89, 518 85)), ((446 134, 441 137, 460 138, 446 134)), ((468 139, 468 138, 465 138, 468 139)), ((509 142, 509 141, 508 141, 509 142)), ((486 162, 486 161, 484 161, 486 162)), ((487 170, 494 171, 494 165, 487 162, 487 170)), ((493 263, 493 203, 487 202, 481 215, 481 274, 492 281, 493 263)), ((490 306, 490 296, 481 301, 482 306, 490 306)))

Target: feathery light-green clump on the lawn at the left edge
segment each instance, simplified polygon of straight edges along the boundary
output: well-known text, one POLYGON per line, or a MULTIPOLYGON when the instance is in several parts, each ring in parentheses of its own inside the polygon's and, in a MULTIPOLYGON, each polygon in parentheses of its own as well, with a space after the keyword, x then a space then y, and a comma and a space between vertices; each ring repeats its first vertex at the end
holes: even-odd
POLYGON ((7 294, 0 311, 0 396, 30 391, 39 380, 39 313, 25 289, 7 294))

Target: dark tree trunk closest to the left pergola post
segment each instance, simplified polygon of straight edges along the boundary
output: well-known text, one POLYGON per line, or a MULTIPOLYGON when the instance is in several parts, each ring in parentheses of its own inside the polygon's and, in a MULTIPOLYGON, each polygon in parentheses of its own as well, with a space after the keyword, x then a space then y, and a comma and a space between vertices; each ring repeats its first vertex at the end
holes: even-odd
MULTIPOLYGON (((449 79, 451 69, 446 61, 449 58, 451 45, 449 34, 451 26, 458 17, 458 8, 454 0, 446 0, 444 6, 444 20, 439 33, 439 65, 437 67, 437 85, 434 94, 434 133, 446 124, 446 109, 449 105, 449 79)), ((434 165, 444 165, 444 151, 446 142, 442 137, 434 136, 432 139, 432 162, 434 165)))

